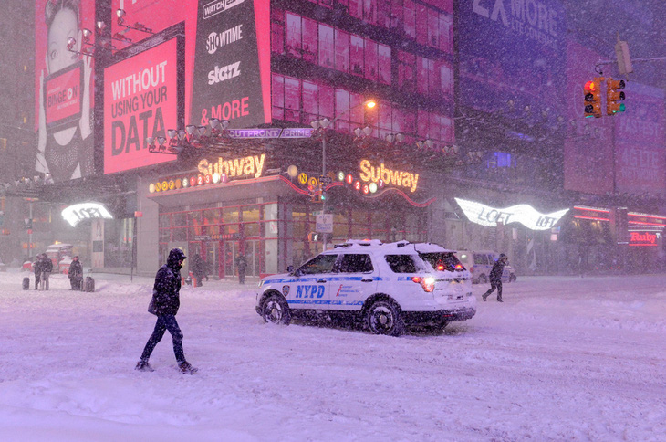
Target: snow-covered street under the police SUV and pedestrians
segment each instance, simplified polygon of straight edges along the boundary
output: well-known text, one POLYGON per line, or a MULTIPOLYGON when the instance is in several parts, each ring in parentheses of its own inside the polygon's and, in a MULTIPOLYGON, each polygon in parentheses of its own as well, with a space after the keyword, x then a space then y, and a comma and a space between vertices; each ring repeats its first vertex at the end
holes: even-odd
MULTIPOLYGON (((2 440, 666 440, 666 276, 534 277, 443 335, 263 323, 255 288, 182 289, 187 359, 152 280, 23 291, 0 274, 2 440)), ((473 286, 480 300, 487 285, 473 286)))

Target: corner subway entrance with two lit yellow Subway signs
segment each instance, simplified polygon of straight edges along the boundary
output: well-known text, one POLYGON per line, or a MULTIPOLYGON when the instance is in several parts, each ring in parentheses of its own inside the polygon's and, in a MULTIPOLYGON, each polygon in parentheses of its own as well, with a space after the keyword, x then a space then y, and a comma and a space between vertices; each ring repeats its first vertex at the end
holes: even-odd
POLYGON ((203 159, 196 171, 148 179, 141 192, 159 205, 157 247, 148 247, 156 248, 161 262, 181 247, 188 257, 205 260, 209 276, 231 279, 239 255, 246 275, 260 277, 301 264, 325 241, 331 247, 349 238, 428 237, 428 206, 435 198, 412 199, 419 195, 418 174, 368 160, 325 177, 296 165, 267 169, 265 163, 263 153, 203 159), (330 229, 317 226, 324 214, 332 217, 330 229))

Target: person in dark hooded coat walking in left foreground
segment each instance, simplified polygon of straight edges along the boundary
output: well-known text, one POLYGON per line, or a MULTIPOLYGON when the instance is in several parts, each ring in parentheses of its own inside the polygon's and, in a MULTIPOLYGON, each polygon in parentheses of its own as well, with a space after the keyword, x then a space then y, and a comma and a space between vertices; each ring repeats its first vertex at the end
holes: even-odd
POLYGON ((152 299, 148 311, 157 316, 155 330, 146 342, 141 353, 141 359, 135 367, 142 372, 152 372, 153 369, 148 360, 157 342, 161 341, 165 331, 169 331, 173 340, 173 353, 176 355, 178 368, 182 373, 194 374, 197 369, 185 360, 182 351, 182 332, 176 321, 176 313, 181 306, 181 268, 182 261, 187 258, 180 248, 173 248, 169 252, 167 263, 164 264, 155 275, 155 285, 152 288, 152 299))

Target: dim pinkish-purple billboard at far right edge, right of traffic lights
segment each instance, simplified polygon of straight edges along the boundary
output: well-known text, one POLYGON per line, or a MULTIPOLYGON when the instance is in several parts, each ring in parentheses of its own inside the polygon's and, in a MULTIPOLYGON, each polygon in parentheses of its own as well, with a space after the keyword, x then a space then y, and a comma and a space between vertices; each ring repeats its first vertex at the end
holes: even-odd
POLYGON ((633 82, 627 82, 624 91, 627 110, 613 116, 616 188, 629 194, 663 194, 664 92, 633 82))

